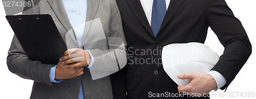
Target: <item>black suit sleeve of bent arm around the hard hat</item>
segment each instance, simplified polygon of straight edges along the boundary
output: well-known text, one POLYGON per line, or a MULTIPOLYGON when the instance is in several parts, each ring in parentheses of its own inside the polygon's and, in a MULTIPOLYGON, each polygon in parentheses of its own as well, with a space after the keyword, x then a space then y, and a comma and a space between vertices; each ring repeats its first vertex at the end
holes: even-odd
POLYGON ((244 27, 224 0, 208 0, 207 6, 208 24, 225 47, 223 55, 212 69, 226 79, 226 85, 221 88, 223 90, 241 70, 252 49, 244 27))

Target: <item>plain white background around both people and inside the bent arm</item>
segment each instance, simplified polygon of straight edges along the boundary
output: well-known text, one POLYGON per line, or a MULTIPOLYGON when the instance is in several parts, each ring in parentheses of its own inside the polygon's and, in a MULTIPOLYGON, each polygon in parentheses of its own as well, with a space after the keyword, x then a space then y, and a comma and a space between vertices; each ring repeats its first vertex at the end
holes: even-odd
MULTIPOLYGON (((191 0, 190 0, 191 1, 191 0)), ((232 9, 234 15, 240 19, 242 22, 252 47, 256 46, 256 6, 255 0, 226 0, 228 6, 232 9)), ((6 64, 7 52, 10 47, 13 31, 5 18, 5 11, 2 2, 0 3, 0 98, 29 98, 33 81, 26 80, 18 77, 15 74, 12 74, 6 64)), ((218 38, 209 28, 207 39, 205 44, 208 45, 212 50, 217 52, 219 55, 223 54, 223 46, 218 41, 218 38)), ((256 95, 256 85, 255 85, 255 76, 256 76, 256 51, 252 48, 252 54, 242 70, 239 72, 237 77, 229 85, 227 91, 225 92, 225 97, 220 97, 220 93, 223 93, 223 90, 211 91, 210 93, 216 93, 217 97, 211 97, 211 99, 219 98, 256 98, 255 97, 241 97, 240 93, 245 95, 245 92, 254 92, 256 95), (234 92, 234 97, 228 97, 229 92, 234 92), (237 93, 238 97, 236 97, 237 93)), ((231 93, 230 93, 231 94, 231 93)), ((232 94, 231 94, 232 95, 232 94)))

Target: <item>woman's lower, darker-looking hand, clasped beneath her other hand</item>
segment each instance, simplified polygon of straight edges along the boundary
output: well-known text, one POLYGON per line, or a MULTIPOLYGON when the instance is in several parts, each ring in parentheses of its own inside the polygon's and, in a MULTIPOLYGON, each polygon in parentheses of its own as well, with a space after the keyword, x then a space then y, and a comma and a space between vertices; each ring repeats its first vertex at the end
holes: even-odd
POLYGON ((67 68, 66 65, 58 62, 55 70, 55 79, 70 79, 83 74, 83 67, 67 68))

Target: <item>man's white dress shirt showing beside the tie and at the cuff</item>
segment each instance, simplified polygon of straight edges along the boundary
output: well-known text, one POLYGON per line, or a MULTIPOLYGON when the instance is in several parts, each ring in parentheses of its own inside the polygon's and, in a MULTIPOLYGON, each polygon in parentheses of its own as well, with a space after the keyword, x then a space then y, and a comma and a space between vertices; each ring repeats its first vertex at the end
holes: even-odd
MULTIPOLYGON (((142 8, 145 12, 146 18, 150 25, 151 25, 153 1, 154 0, 140 0, 142 8)), ((170 4, 170 0, 165 0, 165 3, 166 3, 166 11, 167 11, 170 4)), ((226 79, 217 71, 210 71, 208 75, 212 76, 212 78, 214 78, 217 83, 217 88, 214 89, 215 91, 220 89, 222 86, 224 86, 227 83, 226 79)))

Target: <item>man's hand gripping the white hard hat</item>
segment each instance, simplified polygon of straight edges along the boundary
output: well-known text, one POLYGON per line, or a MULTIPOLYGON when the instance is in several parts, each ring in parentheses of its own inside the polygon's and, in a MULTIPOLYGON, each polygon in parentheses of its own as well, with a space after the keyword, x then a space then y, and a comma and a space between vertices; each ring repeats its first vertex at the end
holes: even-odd
POLYGON ((189 73, 178 75, 180 79, 191 79, 190 83, 181 87, 178 86, 179 92, 186 92, 195 94, 197 96, 203 96, 208 94, 211 90, 217 88, 217 83, 214 78, 204 73, 189 73))

